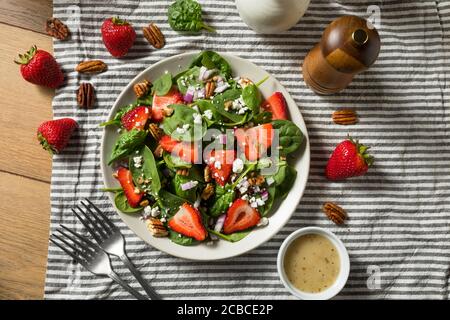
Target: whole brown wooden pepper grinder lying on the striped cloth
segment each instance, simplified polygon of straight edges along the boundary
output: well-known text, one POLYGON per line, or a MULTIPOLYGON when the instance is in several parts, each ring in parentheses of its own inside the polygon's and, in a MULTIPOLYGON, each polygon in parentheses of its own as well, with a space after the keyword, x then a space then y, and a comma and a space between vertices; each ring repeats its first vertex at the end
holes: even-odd
POLYGON ((380 51, 380 36, 365 19, 343 16, 325 29, 322 39, 306 55, 303 79, 316 93, 343 90, 353 76, 369 68, 380 51))

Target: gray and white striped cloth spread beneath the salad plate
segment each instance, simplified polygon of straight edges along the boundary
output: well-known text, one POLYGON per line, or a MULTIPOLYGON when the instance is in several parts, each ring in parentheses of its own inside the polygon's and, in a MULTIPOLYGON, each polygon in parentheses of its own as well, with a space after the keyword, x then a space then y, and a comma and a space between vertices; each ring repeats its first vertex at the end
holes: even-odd
MULTIPOLYGON (((312 0, 293 29, 258 35, 240 19, 234 1, 200 1, 206 22, 217 33, 180 35, 167 23, 170 1, 54 0, 54 15, 67 22, 72 38, 55 41, 54 50, 68 83, 53 101, 55 117, 73 117, 81 129, 62 155, 54 157, 51 230, 64 223, 83 229, 70 208, 89 197, 109 213, 127 237, 128 252, 164 298, 292 298, 279 281, 276 254, 284 238, 309 225, 326 227, 346 244, 350 278, 338 298, 449 298, 450 135, 449 1, 312 0), (368 17, 378 5, 382 49, 376 64, 341 94, 320 97, 306 88, 300 63, 324 27, 343 14, 368 17), (112 15, 130 20, 138 38, 125 59, 104 48, 100 26, 112 15), (162 50, 150 47, 140 29, 149 21, 166 36, 162 50), (220 262, 185 261, 161 253, 137 238, 115 214, 102 187, 101 129, 125 85, 149 65, 172 55, 211 49, 246 58, 278 78, 296 100, 311 140, 311 172, 305 195, 290 222, 271 241, 243 256, 220 262), (85 77, 73 71, 84 59, 102 59, 109 70, 85 77), (76 105, 81 81, 91 81, 96 108, 76 105), (330 121, 337 107, 354 107, 360 123, 330 121), (323 176, 333 147, 347 133, 372 146, 375 165, 364 177, 331 183, 323 176), (336 201, 350 220, 337 227, 321 212, 336 201), (379 272, 378 272, 379 271, 379 272), (378 272, 378 273, 377 273, 378 272), (376 280, 380 280, 378 283, 376 280)), ((130 274, 115 262, 119 274, 130 274)), ((134 282, 136 287, 137 283, 134 282)), ((127 299, 109 279, 83 270, 50 244, 45 287, 48 299, 127 299)))

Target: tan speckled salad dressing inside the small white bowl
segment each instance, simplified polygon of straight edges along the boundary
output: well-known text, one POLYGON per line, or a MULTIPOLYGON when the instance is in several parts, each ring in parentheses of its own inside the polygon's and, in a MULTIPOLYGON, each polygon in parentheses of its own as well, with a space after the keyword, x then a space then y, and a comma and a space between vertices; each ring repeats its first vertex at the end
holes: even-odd
POLYGON ((326 237, 303 235, 287 248, 284 270, 289 281, 300 291, 322 292, 331 287, 339 275, 339 253, 326 237))

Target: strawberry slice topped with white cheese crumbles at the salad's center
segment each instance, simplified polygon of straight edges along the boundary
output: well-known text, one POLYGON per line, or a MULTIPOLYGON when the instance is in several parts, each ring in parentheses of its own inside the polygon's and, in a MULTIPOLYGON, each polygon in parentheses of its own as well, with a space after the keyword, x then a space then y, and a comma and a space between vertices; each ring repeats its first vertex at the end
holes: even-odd
POLYGON ((235 158, 236 152, 234 150, 213 150, 209 157, 205 159, 211 169, 212 177, 221 186, 228 182, 235 158))

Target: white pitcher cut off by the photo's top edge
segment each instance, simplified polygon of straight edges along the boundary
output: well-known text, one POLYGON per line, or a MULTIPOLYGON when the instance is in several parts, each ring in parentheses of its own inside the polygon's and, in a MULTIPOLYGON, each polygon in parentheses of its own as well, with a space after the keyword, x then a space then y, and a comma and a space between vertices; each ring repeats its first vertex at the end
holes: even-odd
POLYGON ((297 24, 310 0, 236 0, 242 20, 255 32, 278 33, 297 24))

